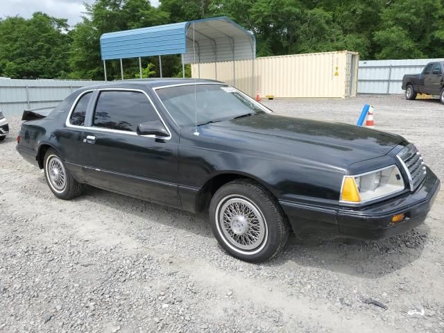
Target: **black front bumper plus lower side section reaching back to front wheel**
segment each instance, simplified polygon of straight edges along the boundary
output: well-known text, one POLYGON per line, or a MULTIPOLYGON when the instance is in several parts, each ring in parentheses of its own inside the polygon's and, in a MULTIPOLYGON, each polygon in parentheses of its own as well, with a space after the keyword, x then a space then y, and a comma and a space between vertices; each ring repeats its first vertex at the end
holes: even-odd
POLYGON ((440 181, 427 168, 427 178, 414 192, 364 207, 321 207, 280 200, 296 236, 310 238, 384 239, 402 234, 425 221, 440 188, 440 181), (407 218, 392 223, 393 215, 407 218))

